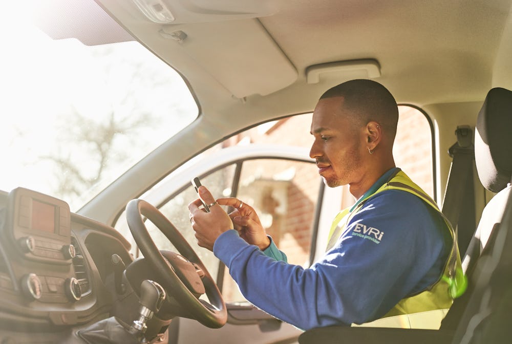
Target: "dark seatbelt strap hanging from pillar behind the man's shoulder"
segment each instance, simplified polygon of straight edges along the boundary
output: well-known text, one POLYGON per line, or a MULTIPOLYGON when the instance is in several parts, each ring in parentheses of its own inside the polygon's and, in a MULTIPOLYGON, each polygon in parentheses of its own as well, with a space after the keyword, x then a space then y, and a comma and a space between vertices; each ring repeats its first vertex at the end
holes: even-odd
POLYGON ((469 125, 457 126, 455 135, 457 142, 448 149, 453 159, 442 212, 455 229, 460 255, 464 256, 476 229, 473 184, 475 147, 472 142, 473 131, 469 125))

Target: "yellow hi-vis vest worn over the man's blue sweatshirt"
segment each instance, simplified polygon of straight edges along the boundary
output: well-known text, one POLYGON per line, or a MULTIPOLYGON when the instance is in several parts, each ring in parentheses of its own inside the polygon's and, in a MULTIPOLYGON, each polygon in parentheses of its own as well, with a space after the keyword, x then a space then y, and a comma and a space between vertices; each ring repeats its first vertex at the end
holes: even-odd
POLYGON ((441 213, 436 203, 401 170, 392 175, 374 193, 359 200, 352 211, 347 208, 337 214, 329 233, 327 250, 331 249, 338 238, 345 234, 350 219, 362 208, 365 201, 385 190, 410 192, 434 208, 443 217, 446 229, 450 231, 452 249, 444 264, 442 274, 434 284, 421 292, 404 297, 382 318, 359 326, 439 329, 441 320, 452 306, 453 300, 464 293, 467 279, 462 271, 455 232, 450 221, 441 213))

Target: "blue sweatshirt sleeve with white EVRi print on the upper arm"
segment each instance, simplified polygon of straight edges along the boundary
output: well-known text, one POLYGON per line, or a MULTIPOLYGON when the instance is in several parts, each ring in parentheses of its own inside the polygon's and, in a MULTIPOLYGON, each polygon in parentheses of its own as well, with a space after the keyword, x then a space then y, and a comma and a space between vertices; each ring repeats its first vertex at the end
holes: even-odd
POLYGON ((434 283, 449 247, 439 219, 408 192, 380 192, 350 220, 346 235, 313 264, 276 261, 234 230, 215 255, 255 306, 298 328, 361 324, 434 283))

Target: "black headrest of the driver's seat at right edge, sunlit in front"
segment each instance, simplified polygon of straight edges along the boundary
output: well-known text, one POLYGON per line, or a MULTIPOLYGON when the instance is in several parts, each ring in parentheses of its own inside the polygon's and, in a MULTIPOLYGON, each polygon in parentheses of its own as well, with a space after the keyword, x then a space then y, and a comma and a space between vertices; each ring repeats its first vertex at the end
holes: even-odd
POLYGON ((482 185, 501 191, 512 179, 512 92, 494 88, 478 114, 475 162, 482 185))

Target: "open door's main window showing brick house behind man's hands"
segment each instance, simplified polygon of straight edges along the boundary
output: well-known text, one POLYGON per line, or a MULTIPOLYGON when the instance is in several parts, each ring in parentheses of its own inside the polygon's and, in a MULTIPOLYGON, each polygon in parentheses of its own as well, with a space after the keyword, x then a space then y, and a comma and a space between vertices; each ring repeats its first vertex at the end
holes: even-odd
MULTIPOLYGON (((311 162, 247 160, 242 165, 237 198, 257 211, 267 234, 286 253, 289 263, 308 266, 320 186, 316 165, 311 162)), ((228 273, 222 294, 226 302, 244 300, 228 273)))

